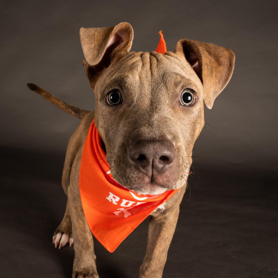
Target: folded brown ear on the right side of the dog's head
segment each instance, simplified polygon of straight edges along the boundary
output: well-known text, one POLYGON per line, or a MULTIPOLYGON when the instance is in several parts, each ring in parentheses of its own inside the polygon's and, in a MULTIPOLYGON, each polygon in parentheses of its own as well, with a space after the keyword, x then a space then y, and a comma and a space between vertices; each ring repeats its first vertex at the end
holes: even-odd
POLYGON ((176 44, 175 53, 184 55, 200 78, 205 104, 211 109, 215 98, 231 79, 235 64, 234 52, 211 43, 181 39, 176 44))

